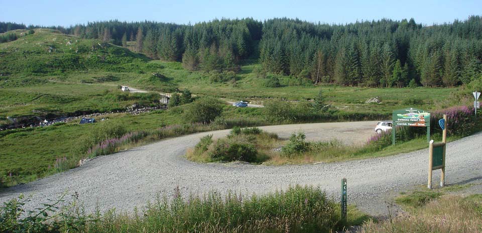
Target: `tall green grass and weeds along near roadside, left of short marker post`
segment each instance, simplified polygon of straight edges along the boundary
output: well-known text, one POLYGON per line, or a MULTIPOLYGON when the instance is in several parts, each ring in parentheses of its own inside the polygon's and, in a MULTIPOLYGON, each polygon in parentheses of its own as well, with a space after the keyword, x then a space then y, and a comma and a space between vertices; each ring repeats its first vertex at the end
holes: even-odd
POLYGON ((339 220, 336 203, 321 188, 311 186, 294 186, 266 195, 229 192, 225 197, 214 191, 202 196, 183 196, 177 187, 172 199, 158 197, 155 203, 133 215, 115 211, 103 216, 86 215, 50 204, 53 212, 45 217, 39 210, 28 214, 35 218, 22 217, 24 202, 13 199, 0 207, 0 232, 16 232, 26 226, 52 232, 99 233, 331 232, 342 228, 344 223, 339 220), (53 221, 44 219, 56 215, 53 221))

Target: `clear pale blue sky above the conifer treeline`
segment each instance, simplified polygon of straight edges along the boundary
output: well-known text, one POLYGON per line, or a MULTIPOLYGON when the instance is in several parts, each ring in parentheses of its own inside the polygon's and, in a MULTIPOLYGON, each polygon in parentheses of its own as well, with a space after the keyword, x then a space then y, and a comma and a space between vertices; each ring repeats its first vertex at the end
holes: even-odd
POLYGON ((87 22, 157 21, 192 24, 222 18, 297 18, 308 22, 346 24, 356 21, 414 18, 423 25, 451 23, 482 15, 482 0, 365 1, 6 1, 0 0, 0 22, 70 26, 87 22))

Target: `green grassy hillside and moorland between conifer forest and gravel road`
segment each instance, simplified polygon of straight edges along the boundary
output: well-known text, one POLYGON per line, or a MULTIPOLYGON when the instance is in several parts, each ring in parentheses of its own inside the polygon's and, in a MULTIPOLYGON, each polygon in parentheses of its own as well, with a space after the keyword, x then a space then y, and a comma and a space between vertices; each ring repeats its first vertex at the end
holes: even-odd
MULTIPOLYGON (((19 35, 23 32, 16 30, 19 35)), ((260 68, 257 60, 246 60, 241 64, 239 73, 226 81, 213 82, 212 76, 216 74, 187 71, 179 62, 149 60, 141 54, 97 40, 37 29, 34 34, 0 44, 0 124, 11 123, 7 116, 52 118, 82 112, 115 112, 134 103, 153 106, 159 104, 157 92, 172 93, 186 88, 199 97, 247 100, 264 105, 283 101, 287 105, 298 106, 291 110, 296 112, 300 112, 300 106, 306 106, 306 101, 312 100, 322 89, 327 104, 336 111, 326 119, 319 116, 302 118, 302 114, 309 112, 309 109, 303 108, 300 117, 297 115, 283 123, 380 119, 388 118, 394 109, 409 106, 430 111, 459 104, 456 99, 450 98, 458 88, 314 86, 290 76, 260 75, 260 68), (279 80, 278 87, 268 87, 268 82, 274 79, 279 80), (118 85, 152 92, 125 93, 118 90, 118 85), (366 103, 377 96, 381 103, 366 103)), ((270 119, 266 109, 239 109, 227 105, 223 108, 223 121, 229 123, 221 125, 221 128, 241 123, 246 125, 240 119, 248 119, 248 125, 281 123, 270 119)), ((107 117, 109 121, 123 125, 127 132, 154 132, 162 126, 185 123, 182 119, 184 110, 181 106, 137 116, 113 114, 107 117)), ((14 184, 61 170, 54 168, 57 159, 74 161, 80 157, 86 148, 79 148, 84 143, 79 138, 101 131, 104 124, 79 126, 78 122, 70 122, 46 128, 3 131, 0 133, 0 147, 3 149, 0 176, 12 173, 15 182, 11 184, 14 184)), ((173 135, 191 131, 184 130, 173 135)), ((133 145, 127 147, 130 146, 133 145)))

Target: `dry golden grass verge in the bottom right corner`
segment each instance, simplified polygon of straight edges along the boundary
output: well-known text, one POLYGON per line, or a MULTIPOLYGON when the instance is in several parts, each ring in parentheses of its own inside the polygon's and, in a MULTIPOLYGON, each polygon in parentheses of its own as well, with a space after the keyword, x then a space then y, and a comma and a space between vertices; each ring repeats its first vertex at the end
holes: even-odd
POLYGON ((443 195, 449 187, 397 198, 406 213, 380 222, 368 220, 360 232, 482 232, 482 195, 443 195))

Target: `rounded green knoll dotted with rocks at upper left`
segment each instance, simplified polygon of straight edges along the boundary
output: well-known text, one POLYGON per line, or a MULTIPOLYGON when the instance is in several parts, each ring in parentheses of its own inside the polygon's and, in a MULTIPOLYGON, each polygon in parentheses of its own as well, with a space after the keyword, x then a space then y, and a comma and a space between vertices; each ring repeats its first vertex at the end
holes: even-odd
MULTIPOLYGON (((16 30, 16 33, 19 30, 16 30)), ((74 70, 132 70, 132 64, 149 60, 143 55, 100 40, 80 39, 50 29, 1 44, 3 75, 61 75, 74 70)))

